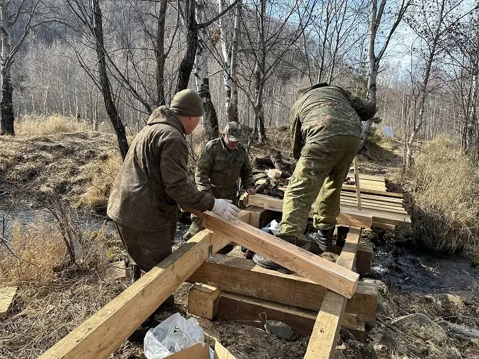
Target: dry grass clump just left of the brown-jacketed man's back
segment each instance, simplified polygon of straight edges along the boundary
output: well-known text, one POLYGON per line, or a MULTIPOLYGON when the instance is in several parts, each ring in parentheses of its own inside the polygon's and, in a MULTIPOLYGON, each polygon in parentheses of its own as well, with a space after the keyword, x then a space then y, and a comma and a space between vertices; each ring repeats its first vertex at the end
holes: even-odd
POLYGON ((103 154, 90 164, 91 181, 81 196, 80 204, 86 207, 105 208, 109 192, 122 165, 118 152, 103 154))

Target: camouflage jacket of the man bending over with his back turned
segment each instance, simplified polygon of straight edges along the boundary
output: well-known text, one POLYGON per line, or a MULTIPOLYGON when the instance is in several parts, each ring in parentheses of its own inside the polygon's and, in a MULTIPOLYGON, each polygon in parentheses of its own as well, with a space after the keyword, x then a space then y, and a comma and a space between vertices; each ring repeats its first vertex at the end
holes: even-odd
POLYGON ((298 95, 289 112, 296 159, 305 144, 335 135, 361 137, 361 120, 369 120, 376 113, 376 103, 339 86, 313 85, 298 95))

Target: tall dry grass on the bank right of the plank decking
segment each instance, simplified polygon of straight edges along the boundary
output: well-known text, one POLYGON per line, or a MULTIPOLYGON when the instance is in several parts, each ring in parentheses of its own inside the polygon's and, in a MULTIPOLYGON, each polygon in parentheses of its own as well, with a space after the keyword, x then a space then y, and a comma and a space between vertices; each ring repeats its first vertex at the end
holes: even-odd
POLYGON ((479 250, 479 170, 454 140, 430 142, 399 181, 414 198, 416 239, 440 251, 479 250))

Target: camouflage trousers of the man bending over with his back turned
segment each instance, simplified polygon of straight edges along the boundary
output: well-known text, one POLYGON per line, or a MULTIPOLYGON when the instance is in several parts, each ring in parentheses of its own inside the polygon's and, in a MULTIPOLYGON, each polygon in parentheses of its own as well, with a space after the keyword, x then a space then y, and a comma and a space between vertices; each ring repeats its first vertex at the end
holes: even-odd
POLYGON ((283 217, 276 237, 298 239, 314 204, 315 228, 334 228, 339 215, 341 187, 359 148, 359 138, 337 135, 307 144, 284 196, 283 217))

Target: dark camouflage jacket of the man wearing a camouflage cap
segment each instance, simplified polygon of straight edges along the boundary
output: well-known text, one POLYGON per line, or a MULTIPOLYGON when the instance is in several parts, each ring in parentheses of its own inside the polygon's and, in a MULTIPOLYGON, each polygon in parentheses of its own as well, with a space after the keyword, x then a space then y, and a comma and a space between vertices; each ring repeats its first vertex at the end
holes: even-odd
POLYGON ((215 198, 235 198, 238 177, 241 177, 244 189, 254 187, 253 169, 246 148, 239 145, 229 150, 222 137, 205 144, 196 163, 198 189, 213 194, 215 198))

